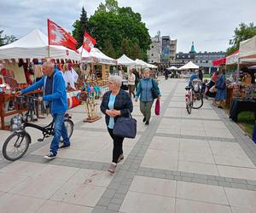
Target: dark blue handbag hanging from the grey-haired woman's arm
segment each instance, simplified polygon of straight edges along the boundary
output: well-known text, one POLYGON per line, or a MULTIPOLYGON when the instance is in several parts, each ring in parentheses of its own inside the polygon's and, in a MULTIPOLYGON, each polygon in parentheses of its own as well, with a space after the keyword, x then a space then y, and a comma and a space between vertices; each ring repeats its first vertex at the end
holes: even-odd
POLYGON ((131 117, 129 112, 129 117, 119 117, 113 126, 113 135, 119 137, 135 138, 137 134, 137 120, 131 117))

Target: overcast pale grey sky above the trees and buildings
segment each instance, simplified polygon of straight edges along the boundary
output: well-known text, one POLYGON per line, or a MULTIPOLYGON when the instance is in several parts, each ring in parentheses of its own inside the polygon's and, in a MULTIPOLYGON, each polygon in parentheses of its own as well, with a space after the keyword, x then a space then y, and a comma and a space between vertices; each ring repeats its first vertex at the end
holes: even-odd
MULTIPOLYGON (((1 0, 0 30, 22 37, 33 28, 46 34, 47 18, 69 32, 79 19, 84 4, 88 16, 101 0, 1 0)), ((241 21, 256 23, 256 0, 119 0, 142 14, 151 37, 177 39, 177 51, 188 52, 192 41, 195 51, 219 51, 229 47, 229 39, 241 21)))

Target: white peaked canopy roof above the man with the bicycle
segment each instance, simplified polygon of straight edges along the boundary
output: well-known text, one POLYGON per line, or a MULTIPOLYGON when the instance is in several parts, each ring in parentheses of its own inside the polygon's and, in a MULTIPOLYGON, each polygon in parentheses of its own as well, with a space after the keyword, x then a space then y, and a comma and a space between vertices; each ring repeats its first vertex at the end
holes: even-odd
POLYGON ((38 29, 21 37, 14 43, 0 47, 0 60, 5 59, 71 59, 80 60, 81 56, 63 46, 48 45, 48 37, 38 29))

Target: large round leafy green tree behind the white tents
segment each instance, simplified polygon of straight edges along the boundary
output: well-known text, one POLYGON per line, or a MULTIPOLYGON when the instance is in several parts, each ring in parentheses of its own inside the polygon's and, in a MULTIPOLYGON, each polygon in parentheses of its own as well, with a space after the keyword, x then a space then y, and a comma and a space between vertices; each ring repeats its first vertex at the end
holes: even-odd
POLYGON ((141 15, 131 8, 119 8, 117 1, 106 0, 90 16, 89 28, 96 38, 96 47, 103 52, 108 40, 117 57, 125 54, 133 59, 136 57, 145 60, 143 55, 149 49, 150 36, 141 15))

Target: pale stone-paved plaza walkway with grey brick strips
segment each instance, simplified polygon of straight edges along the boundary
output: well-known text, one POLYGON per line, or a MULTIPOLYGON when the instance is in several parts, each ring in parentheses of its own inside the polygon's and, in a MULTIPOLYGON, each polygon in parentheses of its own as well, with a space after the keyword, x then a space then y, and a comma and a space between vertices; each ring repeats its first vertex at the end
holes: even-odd
MULTIPOLYGON (((72 147, 54 160, 43 158, 50 139, 37 142, 40 132, 29 130, 32 146, 23 158, 10 163, 0 155, 0 212, 256 212, 256 146, 210 101, 189 115, 185 84, 160 80, 161 112, 149 126, 134 102, 137 138, 125 139, 114 175, 104 118, 83 123, 84 106, 69 111, 72 147)), ((9 132, 0 135, 2 147, 9 132)))

